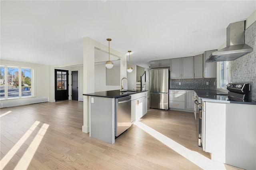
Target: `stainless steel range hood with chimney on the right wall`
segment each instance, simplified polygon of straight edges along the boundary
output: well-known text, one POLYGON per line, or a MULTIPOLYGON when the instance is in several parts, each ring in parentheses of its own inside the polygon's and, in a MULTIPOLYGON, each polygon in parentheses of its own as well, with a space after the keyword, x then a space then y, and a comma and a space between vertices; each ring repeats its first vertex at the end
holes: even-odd
POLYGON ((229 24, 226 47, 213 52, 206 62, 230 61, 252 52, 252 47, 244 43, 244 28, 245 21, 229 24))

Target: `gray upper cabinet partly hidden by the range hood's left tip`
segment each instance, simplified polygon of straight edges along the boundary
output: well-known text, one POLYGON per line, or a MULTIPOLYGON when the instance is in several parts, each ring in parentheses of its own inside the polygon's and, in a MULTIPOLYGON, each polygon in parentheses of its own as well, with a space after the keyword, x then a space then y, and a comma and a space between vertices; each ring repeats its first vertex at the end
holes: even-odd
POLYGON ((203 68, 204 72, 203 75, 205 78, 216 78, 216 69, 217 69, 217 62, 208 62, 206 63, 206 59, 210 57, 210 55, 217 50, 210 50, 204 51, 203 56, 203 68))

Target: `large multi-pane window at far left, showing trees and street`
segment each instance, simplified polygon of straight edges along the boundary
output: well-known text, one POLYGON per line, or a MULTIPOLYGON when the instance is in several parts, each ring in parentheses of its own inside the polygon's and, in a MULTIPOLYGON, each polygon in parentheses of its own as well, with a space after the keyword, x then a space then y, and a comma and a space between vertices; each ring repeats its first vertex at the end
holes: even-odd
POLYGON ((32 96, 32 68, 1 66, 0 99, 32 96))

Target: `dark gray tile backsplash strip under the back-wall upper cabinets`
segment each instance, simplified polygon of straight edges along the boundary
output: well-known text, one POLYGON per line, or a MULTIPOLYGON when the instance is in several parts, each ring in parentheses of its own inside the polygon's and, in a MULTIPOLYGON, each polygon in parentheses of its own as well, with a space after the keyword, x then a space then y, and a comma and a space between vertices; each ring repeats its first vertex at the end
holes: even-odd
POLYGON ((216 90, 216 78, 171 79, 171 89, 214 89, 216 90), (206 85, 207 82, 208 82, 208 85, 206 85))

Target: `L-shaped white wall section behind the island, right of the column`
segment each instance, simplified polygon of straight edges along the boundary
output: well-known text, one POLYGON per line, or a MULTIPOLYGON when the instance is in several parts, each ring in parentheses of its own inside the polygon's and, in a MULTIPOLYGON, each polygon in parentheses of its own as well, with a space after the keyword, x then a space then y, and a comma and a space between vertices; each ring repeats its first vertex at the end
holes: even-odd
MULTIPOLYGON (((94 76, 96 77, 96 79, 94 80, 94 91, 108 91, 120 89, 120 85, 106 85, 105 64, 94 65, 94 76)), ((118 82, 120 82, 120 77, 118 77, 118 82)))

